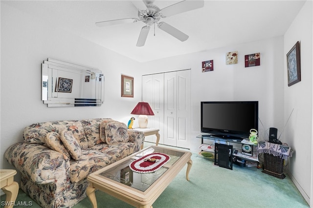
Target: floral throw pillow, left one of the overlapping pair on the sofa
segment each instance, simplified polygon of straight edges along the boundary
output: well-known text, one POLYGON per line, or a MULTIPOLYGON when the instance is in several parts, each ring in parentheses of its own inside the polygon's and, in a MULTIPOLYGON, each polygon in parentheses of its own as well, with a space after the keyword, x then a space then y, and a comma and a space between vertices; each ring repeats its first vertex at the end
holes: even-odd
POLYGON ((52 150, 58 151, 70 158, 67 148, 63 145, 63 142, 60 139, 60 134, 57 132, 49 132, 45 137, 45 144, 52 150))

